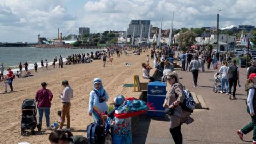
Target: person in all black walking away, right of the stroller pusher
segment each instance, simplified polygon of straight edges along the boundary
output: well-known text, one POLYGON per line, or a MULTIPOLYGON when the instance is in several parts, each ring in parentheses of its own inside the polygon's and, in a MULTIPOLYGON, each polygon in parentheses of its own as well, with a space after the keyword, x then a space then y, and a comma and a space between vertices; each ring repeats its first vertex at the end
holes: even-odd
POLYGON ((233 60, 228 67, 229 99, 236 99, 236 86, 237 83, 239 84, 239 79, 239 68, 236 66, 236 60, 233 60), (234 86, 233 95, 231 95, 232 86, 234 86))

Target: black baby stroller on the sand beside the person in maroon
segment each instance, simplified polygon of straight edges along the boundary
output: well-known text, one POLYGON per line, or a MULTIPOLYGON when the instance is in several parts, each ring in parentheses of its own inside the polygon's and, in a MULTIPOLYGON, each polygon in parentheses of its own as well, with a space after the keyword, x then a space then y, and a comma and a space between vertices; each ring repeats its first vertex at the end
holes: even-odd
POLYGON ((41 131, 41 127, 37 125, 36 119, 36 101, 34 99, 25 99, 21 106, 22 117, 21 117, 21 135, 25 136, 27 132, 25 130, 31 130, 31 134, 35 134, 35 128, 41 131))

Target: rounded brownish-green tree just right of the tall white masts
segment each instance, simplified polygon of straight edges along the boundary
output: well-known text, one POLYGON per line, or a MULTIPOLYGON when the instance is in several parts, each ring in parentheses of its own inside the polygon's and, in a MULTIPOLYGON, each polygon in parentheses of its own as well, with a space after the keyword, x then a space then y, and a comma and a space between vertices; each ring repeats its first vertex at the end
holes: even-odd
POLYGON ((180 33, 177 40, 179 41, 181 50, 185 50, 186 47, 190 47, 196 43, 196 34, 189 30, 185 33, 180 33))

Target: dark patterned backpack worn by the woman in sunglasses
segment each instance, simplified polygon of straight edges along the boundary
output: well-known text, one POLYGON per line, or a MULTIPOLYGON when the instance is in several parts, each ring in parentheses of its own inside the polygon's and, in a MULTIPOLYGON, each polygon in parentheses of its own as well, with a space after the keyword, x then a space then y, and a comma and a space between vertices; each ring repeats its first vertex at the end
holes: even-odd
MULTIPOLYGON (((174 87, 173 91, 175 93, 174 87)), ((180 103, 180 107, 190 113, 193 113, 193 110, 196 107, 196 102, 194 101, 192 94, 190 93, 189 90, 185 89, 184 87, 182 88, 183 94, 184 94, 184 100, 183 103, 180 103)), ((176 98, 178 97, 177 94, 175 93, 176 98)))

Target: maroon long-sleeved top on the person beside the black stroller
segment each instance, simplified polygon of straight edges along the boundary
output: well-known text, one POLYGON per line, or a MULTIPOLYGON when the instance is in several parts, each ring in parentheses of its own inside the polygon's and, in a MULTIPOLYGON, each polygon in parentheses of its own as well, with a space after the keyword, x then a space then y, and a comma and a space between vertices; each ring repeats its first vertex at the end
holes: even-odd
POLYGON ((36 92, 36 101, 38 101, 38 107, 51 107, 51 101, 53 94, 48 89, 40 89, 36 92))

